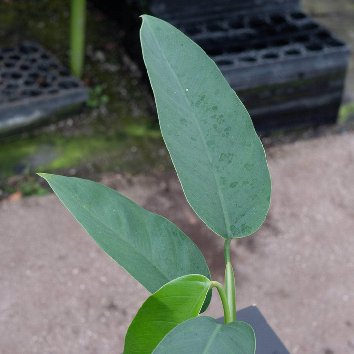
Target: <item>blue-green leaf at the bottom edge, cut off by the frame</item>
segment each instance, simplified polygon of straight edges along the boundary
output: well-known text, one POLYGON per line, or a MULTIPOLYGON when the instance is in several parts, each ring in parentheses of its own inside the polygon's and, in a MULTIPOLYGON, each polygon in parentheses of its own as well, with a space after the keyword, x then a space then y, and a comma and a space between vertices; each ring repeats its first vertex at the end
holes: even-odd
POLYGON ((253 328, 241 321, 219 324, 212 317, 195 317, 179 324, 152 354, 254 354, 253 328))

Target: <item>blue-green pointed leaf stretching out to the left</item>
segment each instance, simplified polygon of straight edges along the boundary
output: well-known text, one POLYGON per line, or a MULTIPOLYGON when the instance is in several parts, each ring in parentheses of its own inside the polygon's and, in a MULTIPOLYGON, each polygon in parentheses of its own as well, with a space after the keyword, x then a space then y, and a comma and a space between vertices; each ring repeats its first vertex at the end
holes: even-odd
POLYGON ((164 217, 102 184, 39 175, 99 246, 151 293, 186 274, 210 278, 197 246, 164 217))

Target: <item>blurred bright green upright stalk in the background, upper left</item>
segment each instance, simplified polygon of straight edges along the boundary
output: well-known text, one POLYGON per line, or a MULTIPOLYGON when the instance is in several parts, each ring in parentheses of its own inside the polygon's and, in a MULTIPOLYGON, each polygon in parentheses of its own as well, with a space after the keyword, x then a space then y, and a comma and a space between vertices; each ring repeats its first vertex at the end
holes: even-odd
POLYGON ((70 68, 81 77, 85 55, 86 0, 71 0, 70 17, 70 68))

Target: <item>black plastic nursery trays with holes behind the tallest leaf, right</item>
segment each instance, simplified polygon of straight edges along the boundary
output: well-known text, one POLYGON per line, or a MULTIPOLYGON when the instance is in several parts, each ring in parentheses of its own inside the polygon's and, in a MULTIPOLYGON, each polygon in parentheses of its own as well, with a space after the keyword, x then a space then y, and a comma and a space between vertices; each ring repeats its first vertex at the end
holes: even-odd
POLYGON ((349 48, 299 1, 181 1, 150 8, 210 55, 258 132, 336 122, 349 48))

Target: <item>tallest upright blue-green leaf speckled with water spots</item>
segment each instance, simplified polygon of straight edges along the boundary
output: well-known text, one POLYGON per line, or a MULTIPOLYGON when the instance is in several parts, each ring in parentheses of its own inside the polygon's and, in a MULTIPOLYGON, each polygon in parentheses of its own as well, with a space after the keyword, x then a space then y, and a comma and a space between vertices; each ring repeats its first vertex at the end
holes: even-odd
POLYGON ((251 118, 198 45, 167 22, 142 17, 143 58, 187 200, 218 235, 248 236, 266 217, 271 188, 251 118))

